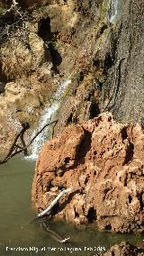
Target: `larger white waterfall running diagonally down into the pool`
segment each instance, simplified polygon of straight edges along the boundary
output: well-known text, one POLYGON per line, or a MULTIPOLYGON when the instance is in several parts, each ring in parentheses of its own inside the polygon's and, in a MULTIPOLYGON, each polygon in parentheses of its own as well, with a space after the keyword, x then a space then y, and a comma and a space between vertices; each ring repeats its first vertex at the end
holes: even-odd
MULTIPOLYGON (((56 91, 56 93, 52 96, 53 99, 53 103, 51 105, 47 105, 41 116, 40 116, 40 120, 38 123, 38 127, 37 129, 34 131, 34 133, 32 133, 31 138, 34 137, 34 135, 36 133, 38 133, 40 131, 40 129, 47 123, 50 123, 54 120, 58 108, 60 106, 62 97, 64 96, 64 93, 68 87, 68 85, 71 84, 71 80, 67 79, 67 80, 63 80, 61 81, 58 90, 56 91)), ((38 157, 39 151, 42 148, 42 145, 45 141, 48 140, 48 133, 49 133, 49 126, 47 128, 45 128, 34 140, 34 142, 32 143, 31 146, 31 155, 26 157, 27 160, 35 160, 38 157)))

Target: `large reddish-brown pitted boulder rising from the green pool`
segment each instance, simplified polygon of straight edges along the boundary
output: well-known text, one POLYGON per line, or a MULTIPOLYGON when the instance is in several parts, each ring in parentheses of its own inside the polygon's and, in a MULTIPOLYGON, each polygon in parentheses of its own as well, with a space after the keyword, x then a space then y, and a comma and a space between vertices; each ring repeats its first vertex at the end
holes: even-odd
POLYGON ((55 218, 115 232, 142 232, 143 160, 139 124, 115 123, 106 113, 70 125, 40 151, 32 201, 40 212, 62 188, 72 187, 55 207, 55 218))

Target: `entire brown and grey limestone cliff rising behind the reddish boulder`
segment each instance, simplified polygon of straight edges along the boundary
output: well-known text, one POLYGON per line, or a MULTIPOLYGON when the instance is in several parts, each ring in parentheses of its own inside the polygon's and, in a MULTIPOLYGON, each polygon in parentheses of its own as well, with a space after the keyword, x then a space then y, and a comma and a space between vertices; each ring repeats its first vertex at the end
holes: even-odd
MULTIPOLYGON (((12 1, 1 1, 8 8, 12 1)), ((26 19, 0 16, 1 151, 15 127, 31 131, 61 78, 72 83, 55 134, 104 111, 121 122, 143 116, 143 9, 138 0, 18 1, 26 19), (26 12, 26 13, 25 13, 26 12), (9 118, 11 116, 12 118, 9 118), (10 120, 11 119, 11 120, 10 120), (13 123, 17 123, 15 126, 13 123)), ((29 134, 28 134, 29 135, 29 134)))

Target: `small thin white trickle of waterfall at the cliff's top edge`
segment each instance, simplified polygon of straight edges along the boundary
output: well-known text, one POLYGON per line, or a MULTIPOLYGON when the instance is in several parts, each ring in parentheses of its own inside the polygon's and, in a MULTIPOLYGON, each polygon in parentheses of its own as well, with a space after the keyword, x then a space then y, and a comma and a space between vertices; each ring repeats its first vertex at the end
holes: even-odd
POLYGON ((108 12, 108 20, 110 23, 115 23, 118 14, 118 0, 111 0, 108 12))

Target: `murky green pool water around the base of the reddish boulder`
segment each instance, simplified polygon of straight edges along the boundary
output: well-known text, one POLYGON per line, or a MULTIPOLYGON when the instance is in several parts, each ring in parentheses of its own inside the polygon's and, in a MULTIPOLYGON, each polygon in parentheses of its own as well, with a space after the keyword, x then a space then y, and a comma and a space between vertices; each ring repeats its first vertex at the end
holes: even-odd
POLYGON ((34 165, 32 161, 14 159, 0 166, 0 256, 94 255, 98 246, 108 248, 123 240, 139 244, 144 239, 139 234, 115 234, 92 228, 76 231, 72 225, 50 223, 50 229, 62 238, 71 238, 67 246, 53 240, 38 221, 33 221, 36 217, 31 206, 34 165))

